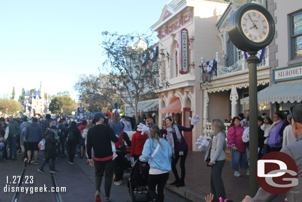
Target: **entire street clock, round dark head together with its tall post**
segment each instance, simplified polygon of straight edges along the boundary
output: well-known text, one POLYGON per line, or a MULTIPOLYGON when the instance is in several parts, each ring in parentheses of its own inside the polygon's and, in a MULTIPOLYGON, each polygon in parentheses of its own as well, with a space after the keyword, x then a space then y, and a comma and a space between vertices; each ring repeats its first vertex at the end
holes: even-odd
POLYGON ((233 44, 248 52, 250 96, 250 176, 249 194, 255 196, 258 184, 255 168, 258 160, 257 129, 257 51, 267 47, 275 35, 275 23, 270 12, 257 3, 247 3, 236 9, 228 20, 228 34, 233 44), (257 13, 257 14, 256 14, 257 13))

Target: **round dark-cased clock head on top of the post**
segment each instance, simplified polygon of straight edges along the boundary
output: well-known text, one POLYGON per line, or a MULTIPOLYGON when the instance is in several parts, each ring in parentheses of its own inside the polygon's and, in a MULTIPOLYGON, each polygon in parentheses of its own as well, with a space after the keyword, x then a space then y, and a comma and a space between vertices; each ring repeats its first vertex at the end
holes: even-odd
POLYGON ((275 23, 266 8, 257 3, 247 3, 231 14, 227 30, 237 48, 255 52, 274 39, 275 23))

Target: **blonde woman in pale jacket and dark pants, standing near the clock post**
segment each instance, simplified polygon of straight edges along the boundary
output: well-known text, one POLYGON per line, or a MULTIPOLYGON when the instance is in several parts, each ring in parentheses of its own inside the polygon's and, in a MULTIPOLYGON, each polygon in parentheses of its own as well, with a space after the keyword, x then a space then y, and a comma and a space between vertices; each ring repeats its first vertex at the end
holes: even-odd
POLYGON ((210 135, 212 138, 212 145, 210 151, 210 162, 211 166, 211 193, 214 195, 214 199, 221 197, 226 199, 223 181, 221 178, 222 168, 225 163, 225 151, 226 145, 226 134, 224 124, 220 119, 214 119, 212 121, 212 130, 214 133, 210 135))

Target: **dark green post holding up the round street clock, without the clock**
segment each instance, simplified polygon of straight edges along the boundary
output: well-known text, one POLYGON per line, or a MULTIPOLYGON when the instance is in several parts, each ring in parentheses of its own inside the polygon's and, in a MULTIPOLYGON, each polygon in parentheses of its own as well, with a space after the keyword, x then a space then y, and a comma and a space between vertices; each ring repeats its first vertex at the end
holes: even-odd
POLYGON ((259 58, 255 56, 257 52, 249 52, 247 59, 249 64, 249 96, 250 96, 250 180, 249 194, 255 196, 258 184, 255 177, 255 168, 258 160, 258 97, 257 97, 257 63, 259 58))

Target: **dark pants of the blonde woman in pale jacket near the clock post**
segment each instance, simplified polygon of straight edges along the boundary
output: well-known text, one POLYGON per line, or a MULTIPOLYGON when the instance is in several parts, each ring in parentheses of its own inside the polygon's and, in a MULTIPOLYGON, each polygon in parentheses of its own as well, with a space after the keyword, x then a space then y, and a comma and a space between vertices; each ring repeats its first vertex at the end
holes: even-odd
POLYGON ((222 168, 225 160, 216 161, 211 167, 211 193, 214 195, 214 199, 221 197, 226 199, 223 181, 221 178, 222 168))

